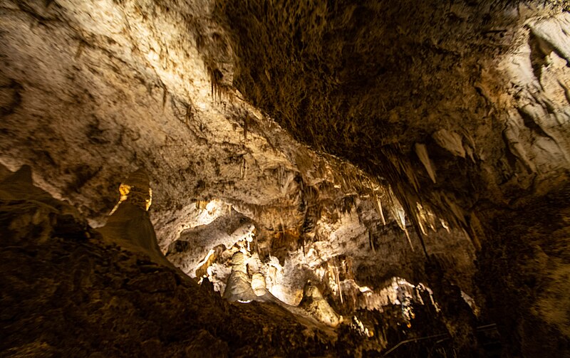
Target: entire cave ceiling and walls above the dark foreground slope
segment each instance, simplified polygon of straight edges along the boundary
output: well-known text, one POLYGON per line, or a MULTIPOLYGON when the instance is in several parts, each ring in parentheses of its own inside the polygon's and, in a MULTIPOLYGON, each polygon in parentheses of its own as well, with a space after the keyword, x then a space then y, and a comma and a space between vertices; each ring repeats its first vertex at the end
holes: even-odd
POLYGON ((105 235, 142 169, 153 255, 220 293, 254 272, 305 307, 311 280, 350 315, 426 283, 567 339, 568 9, 0 0, 0 177, 28 164, 105 235))

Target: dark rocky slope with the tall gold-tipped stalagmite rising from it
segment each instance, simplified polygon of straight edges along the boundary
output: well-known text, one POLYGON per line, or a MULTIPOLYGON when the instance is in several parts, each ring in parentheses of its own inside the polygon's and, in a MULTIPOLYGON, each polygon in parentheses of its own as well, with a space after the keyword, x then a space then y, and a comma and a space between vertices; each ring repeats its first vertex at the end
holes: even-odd
POLYGON ((333 347, 323 325, 200 288, 157 249, 146 175, 125 185, 106 225, 93 229, 33 186, 30 167, 0 166, 0 356, 283 357, 333 347))

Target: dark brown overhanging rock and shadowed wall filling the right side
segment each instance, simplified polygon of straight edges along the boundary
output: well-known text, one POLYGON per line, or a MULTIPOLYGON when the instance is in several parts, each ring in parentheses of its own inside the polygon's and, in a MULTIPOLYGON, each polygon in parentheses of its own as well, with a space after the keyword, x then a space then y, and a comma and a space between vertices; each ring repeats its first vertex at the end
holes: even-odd
POLYGON ((420 203, 465 228, 479 252, 477 300, 512 354, 568 349, 566 4, 218 1, 216 10, 249 100, 301 142, 388 179, 417 226, 420 203))

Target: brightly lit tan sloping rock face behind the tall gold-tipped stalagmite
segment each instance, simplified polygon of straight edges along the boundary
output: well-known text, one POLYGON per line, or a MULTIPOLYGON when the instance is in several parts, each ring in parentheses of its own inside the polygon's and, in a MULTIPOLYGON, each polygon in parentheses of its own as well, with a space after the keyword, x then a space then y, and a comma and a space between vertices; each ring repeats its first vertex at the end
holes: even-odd
POLYGON ((281 177, 332 180, 314 152, 212 90, 198 50, 218 36, 207 5, 3 1, 2 162, 31 164, 95 225, 146 169, 163 248, 198 224, 186 219, 197 200, 290 210, 281 177))

